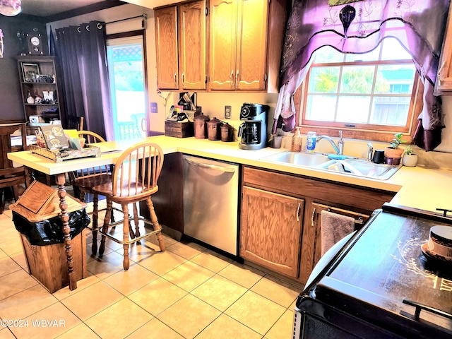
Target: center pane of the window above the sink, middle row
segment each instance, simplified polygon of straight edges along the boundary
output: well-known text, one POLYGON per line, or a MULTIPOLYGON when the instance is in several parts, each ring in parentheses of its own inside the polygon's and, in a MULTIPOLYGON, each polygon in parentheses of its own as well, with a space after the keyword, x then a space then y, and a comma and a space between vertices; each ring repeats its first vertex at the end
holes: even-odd
POLYGON ((374 83, 374 66, 344 66, 340 93, 370 94, 374 83))

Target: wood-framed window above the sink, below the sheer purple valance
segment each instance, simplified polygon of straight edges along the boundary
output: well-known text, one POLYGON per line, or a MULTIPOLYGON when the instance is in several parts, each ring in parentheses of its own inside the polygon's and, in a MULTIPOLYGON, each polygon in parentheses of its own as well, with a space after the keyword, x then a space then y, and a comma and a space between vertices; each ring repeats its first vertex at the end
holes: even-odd
POLYGON ((347 137, 359 134, 358 138, 382 141, 395 132, 410 134, 417 71, 396 39, 383 40, 367 54, 322 47, 314 53, 301 87, 295 102, 302 107, 299 122, 304 132, 342 129, 347 137), (376 138, 378 134, 386 136, 376 138))

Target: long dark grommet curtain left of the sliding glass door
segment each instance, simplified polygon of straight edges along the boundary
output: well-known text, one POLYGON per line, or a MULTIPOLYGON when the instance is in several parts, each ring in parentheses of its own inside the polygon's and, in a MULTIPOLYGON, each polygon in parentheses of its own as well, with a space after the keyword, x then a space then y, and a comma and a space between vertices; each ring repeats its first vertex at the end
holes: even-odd
POLYGON ((90 21, 56 30, 66 121, 85 117, 84 129, 113 140, 105 24, 90 21))

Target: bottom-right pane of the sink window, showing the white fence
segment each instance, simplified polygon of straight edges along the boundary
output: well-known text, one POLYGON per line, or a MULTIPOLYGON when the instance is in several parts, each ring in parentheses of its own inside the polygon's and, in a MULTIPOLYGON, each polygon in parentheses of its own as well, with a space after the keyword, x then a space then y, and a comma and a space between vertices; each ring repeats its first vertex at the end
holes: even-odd
POLYGON ((411 97, 374 97, 371 124, 405 126, 411 97))

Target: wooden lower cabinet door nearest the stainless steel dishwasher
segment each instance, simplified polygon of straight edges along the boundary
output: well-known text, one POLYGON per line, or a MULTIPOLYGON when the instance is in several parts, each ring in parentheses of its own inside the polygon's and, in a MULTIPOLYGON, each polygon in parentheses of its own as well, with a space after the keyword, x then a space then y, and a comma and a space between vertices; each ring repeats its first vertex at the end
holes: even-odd
POLYGON ((243 187, 240 256, 297 278, 304 201, 243 187))

